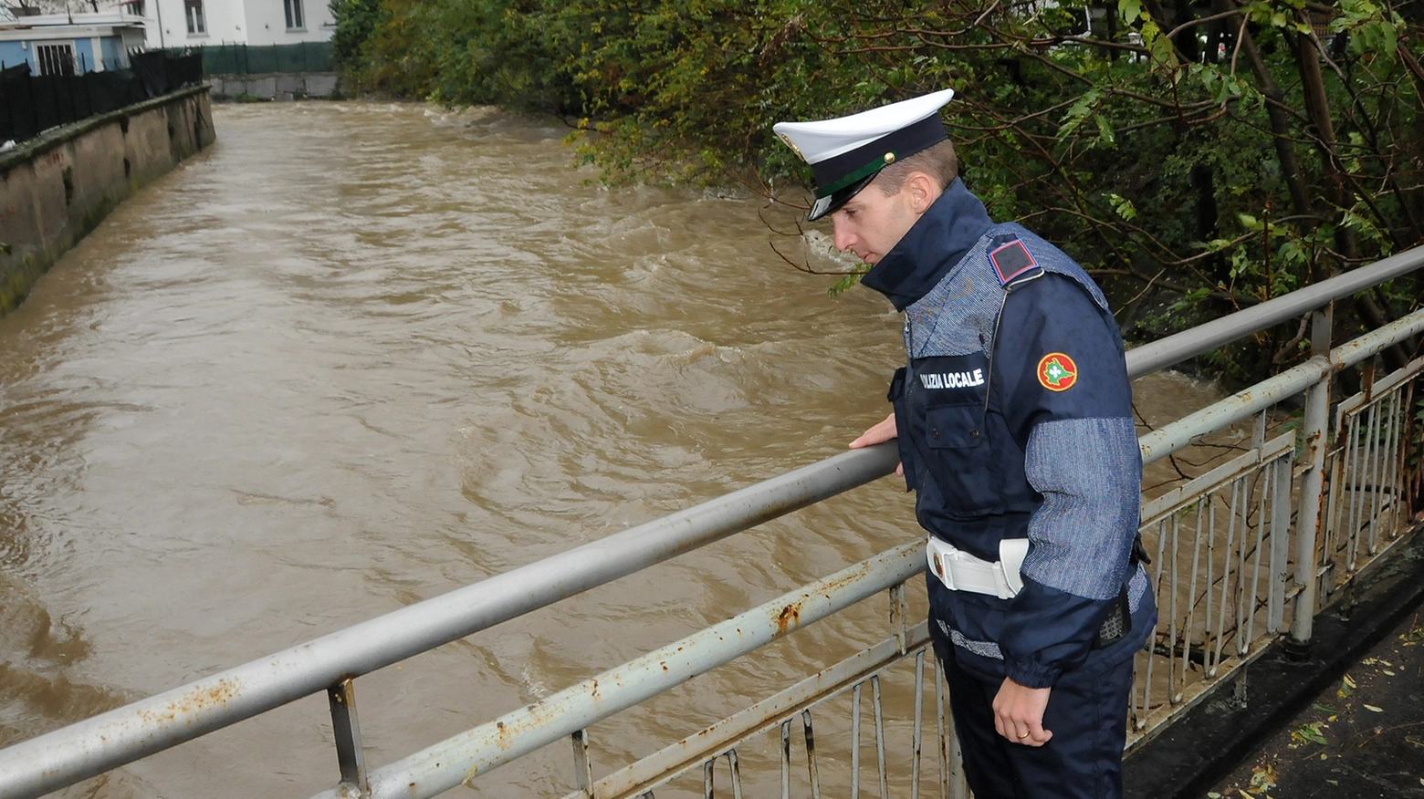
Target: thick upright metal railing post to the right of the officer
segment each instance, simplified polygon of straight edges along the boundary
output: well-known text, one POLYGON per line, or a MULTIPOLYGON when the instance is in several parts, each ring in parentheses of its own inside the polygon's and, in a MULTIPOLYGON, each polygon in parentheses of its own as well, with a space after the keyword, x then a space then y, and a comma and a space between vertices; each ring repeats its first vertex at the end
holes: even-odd
MULTIPOLYGON (((1316 358, 1330 357, 1331 311, 1334 303, 1310 314, 1310 353, 1316 358)), ((1316 616, 1316 540, 1320 533, 1320 496, 1324 488, 1327 427, 1330 424, 1330 371, 1306 390, 1304 452, 1307 465, 1300 481, 1300 510, 1296 513, 1296 594, 1290 617, 1290 643, 1310 644, 1316 616)))

